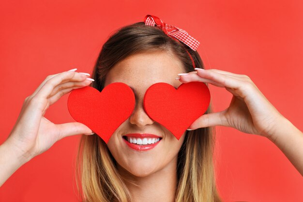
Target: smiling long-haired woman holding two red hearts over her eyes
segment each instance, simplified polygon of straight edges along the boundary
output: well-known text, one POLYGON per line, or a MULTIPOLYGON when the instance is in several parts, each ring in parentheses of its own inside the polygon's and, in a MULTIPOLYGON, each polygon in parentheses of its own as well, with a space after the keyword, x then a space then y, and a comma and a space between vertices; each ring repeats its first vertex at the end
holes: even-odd
MULTIPOLYGON (((197 51, 168 36, 163 28, 138 22, 118 30, 104 44, 93 79, 76 69, 48 76, 25 99, 9 138, 0 145, 0 164, 4 165, 0 185, 56 141, 84 134, 76 167, 82 201, 221 202, 212 162, 215 125, 272 140, 303 174, 303 162, 299 160, 303 159, 302 132, 273 107, 249 77, 204 70, 197 51), (210 105, 177 140, 145 113, 143 97, 153 83, 166 82, 178 88, 191 81, 224 87, 233 97, 224 111, 212 113, 210 105), (91 84, 101 92, 114 82, 133 88, 136 106, 107 144, 84 124, 56 125, 43 117, 50 105, 73 89, 91 84), (150 150, 136 151, 126 143, 135 135, 125 137, 134 133, 154 134, 159 143, 150 150)), ((140 140, 130 144, 140 144, 140 140)))

